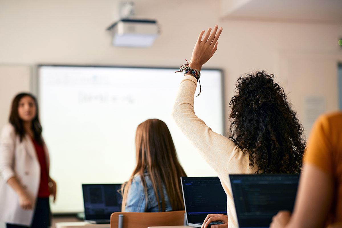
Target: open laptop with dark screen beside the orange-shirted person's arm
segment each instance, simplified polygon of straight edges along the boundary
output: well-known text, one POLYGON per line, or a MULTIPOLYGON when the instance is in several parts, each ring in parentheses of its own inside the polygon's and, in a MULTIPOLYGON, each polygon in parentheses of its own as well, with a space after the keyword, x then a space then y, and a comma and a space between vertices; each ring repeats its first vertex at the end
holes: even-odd
POLYGON ((280 210, 292 212, 299 175, 229 175, 240 228, 268 228, 280 210))

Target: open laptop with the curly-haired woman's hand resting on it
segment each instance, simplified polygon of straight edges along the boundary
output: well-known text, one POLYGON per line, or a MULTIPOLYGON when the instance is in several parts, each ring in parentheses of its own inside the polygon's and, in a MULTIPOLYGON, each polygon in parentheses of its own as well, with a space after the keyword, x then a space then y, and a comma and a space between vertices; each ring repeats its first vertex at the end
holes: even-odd
MULTIPOLYGON (((187 225, 201 227, 208 214, 227 214, 227 195, 219 177, 181 177, 187 225)), ((213 222, 209 225, 223 224, 213 222)))

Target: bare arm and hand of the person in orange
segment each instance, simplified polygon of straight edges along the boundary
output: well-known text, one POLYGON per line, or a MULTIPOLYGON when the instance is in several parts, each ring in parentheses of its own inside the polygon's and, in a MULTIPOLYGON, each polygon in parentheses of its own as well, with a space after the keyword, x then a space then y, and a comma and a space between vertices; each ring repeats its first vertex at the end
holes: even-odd
POLYGON ((274 216, 270 228, 324 227, 333 195, 333 180, 318 167, 305 164, 300 177, 296 202, 291 218, 286 212, 274 216), (289 222, 284 224, 285 218, 289 222))

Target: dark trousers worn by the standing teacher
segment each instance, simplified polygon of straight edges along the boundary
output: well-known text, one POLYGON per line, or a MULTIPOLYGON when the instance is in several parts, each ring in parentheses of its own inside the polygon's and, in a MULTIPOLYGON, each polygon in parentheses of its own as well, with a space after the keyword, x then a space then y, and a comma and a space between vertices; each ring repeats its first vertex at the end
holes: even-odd
MULTIPOLYGON (((33 215, 31 228, 48 228, 50 226, 50 203, 49 198, 37 198, 36 209, 33 215)), ((7 228, 27 228, 14 224, 6 224, 7 228)))

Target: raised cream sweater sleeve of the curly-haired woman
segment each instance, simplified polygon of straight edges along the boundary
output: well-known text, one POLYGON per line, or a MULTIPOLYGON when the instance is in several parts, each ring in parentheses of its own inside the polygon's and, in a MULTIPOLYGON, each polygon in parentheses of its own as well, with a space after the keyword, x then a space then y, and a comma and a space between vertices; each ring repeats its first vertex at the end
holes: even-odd
POLYGON ((233 158, 235 144, 229 138, 215 133, 195 115, 194 95, 197 80, 185 75, 180 84, 172 110, 172 116, 183 134, 188 138, 205 161, 220 176, 233 158))

